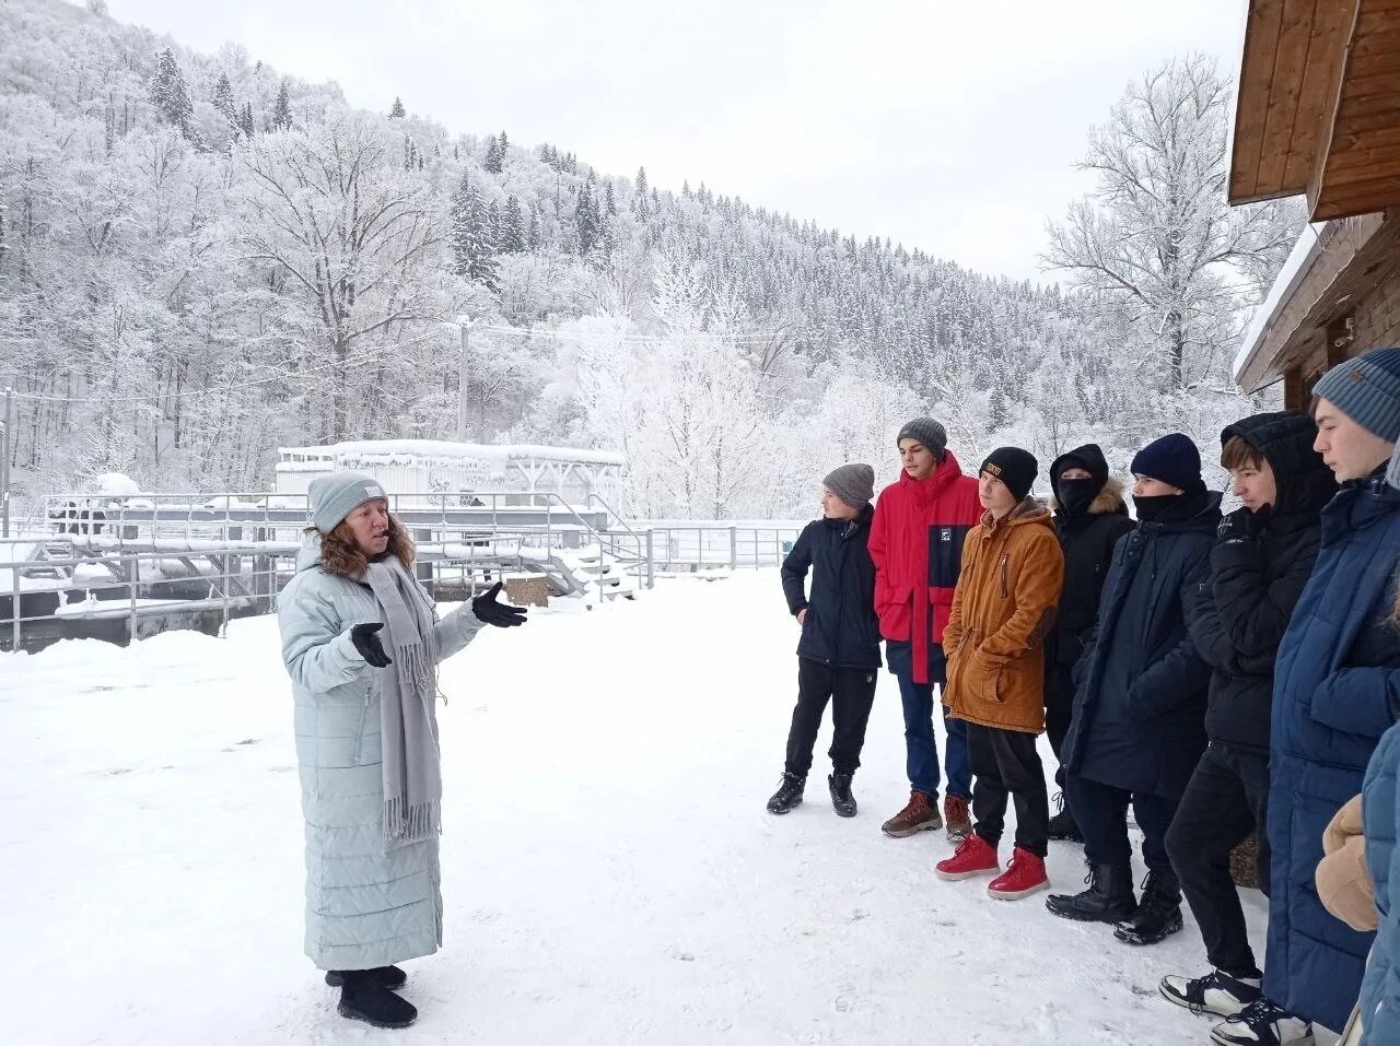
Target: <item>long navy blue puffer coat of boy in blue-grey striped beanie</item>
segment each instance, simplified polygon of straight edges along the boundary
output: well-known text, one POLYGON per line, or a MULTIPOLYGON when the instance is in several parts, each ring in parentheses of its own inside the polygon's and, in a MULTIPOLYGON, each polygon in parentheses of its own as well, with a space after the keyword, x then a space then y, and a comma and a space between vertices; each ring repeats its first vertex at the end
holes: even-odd
POLYGON ((1376 743, 1394 722, 1400 632, 1389 618, 1397 561, 1400 491, 1379 470, 1344 484, 1323 509, 1317 565, 1274 668, 1264 994, 1333 1031, 1357 1001, 1372 934, 1327 913, 1313 874, 1323 829, 1361 791, 1376 743))

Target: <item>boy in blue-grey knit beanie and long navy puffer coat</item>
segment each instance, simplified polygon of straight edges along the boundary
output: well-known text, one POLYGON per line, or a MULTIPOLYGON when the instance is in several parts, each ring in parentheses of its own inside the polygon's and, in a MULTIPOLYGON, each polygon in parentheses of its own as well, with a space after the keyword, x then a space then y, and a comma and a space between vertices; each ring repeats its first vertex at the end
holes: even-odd
POLYGON ((1357 1001, 1373 936, 1317 898, 1323 832, 1361 791, 1394 723, 1400 631, 1400 489, 1385 481, 1400 440, 1400 348, 1376 348, 1313 386, 1315 447, 1341 489, 1322 513, 1322 545, 1274 663, 1270 724, 1268 940, 1260 998, 1215 1026, 1215 1042, 1310 1040, 1340 1029, 1357 1001))

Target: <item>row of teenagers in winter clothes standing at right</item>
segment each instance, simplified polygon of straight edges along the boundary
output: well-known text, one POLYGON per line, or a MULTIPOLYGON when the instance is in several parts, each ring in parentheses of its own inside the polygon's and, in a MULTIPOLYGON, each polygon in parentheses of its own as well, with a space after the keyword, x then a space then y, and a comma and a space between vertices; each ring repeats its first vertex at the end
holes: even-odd
POLYGON ((1047 909, 1149 945, 1183 929, 1184 895, 1211 969, 1159 990, 1224 1018, 1212 1042, 1302 1046, 1317 1025, 1400 1043, 1400 348, 1338 364, 1312 397, 1221 432, 1240 502, 1226 515, 1183 434, 1133 457, 1133 513, 1092 443, 1054 460, 1046 505, 1029 452, 998 447, 965 475, 932 418, 900 429, 878 501, 868 464, 832 471, 781 571, 798 701, 769 810, 802 801, 830 705, 830 797, 855 815, 883 643, 910 798, 882 829, 945 828, 938 877, 1025 898, 1050 885, 1050 840, 1082 843, 1086 888, 1047 909), (1231 874, 1250 833, 1263 969, 1231 874))

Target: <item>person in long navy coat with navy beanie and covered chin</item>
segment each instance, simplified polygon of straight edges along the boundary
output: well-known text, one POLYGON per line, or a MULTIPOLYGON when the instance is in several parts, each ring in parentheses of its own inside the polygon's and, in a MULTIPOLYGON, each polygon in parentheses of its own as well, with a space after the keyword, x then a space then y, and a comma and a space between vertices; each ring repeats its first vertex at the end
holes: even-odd
POLYGON ((1205 489, 1200 452, 1179 432, 1142 447, 1133 474, 1138 523, 1113 550, 1064 745, 1089 888, 1051 895, 1046 906, 1064 919, 1119 923, 1119 940, 1152 944, 1182 929, 1166 829, 1205 748, 1210 668, 1186 621, 1208 569, 1221 495, 1205 489), (1141 905, 1133 895, 1130 801, 1148 867, 1141 905))

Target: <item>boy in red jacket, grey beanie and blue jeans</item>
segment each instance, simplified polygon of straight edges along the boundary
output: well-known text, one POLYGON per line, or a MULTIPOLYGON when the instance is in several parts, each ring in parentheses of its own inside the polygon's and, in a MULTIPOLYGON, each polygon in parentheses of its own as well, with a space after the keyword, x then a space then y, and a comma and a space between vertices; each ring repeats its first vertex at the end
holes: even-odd
MULTIPOLYGON (((934 687, 946 682, 944 628, 962 572, 962 548, 981 520, 977 480, 962 474, 948 450, 948 432, 932 418, 914 418, 899 431, 904 471, 875 503, 869 554, 875 561, 875 612, 886 640, 889 670, 904 705, 909 804, 882 825, 903 838, 944 826, 938 815, 938 747, 934 741, 934 687)), ((967 729, 944 709, 948 736, 948 838, 972 831, 972 765, 967 729)))

